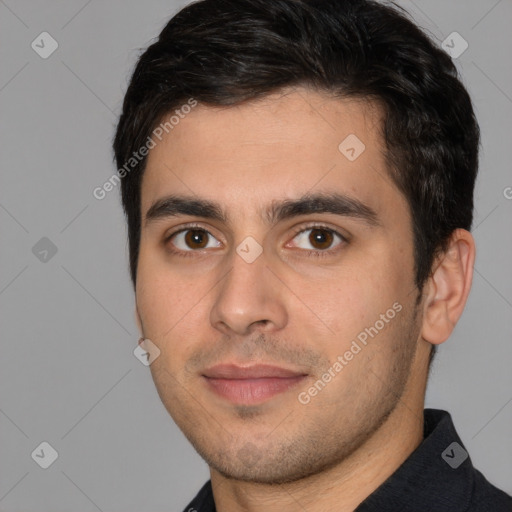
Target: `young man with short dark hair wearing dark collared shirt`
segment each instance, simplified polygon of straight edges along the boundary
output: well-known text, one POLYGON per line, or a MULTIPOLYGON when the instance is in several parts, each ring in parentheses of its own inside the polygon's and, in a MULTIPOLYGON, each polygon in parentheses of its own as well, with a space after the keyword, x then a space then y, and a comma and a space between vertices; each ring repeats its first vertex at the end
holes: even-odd
POLYGON ((114 149, 141 344, 210 467, 186 510, 512 510, 424 411, 478 145, 450 57, 377 2, 203 0, 141 56, 114 149))

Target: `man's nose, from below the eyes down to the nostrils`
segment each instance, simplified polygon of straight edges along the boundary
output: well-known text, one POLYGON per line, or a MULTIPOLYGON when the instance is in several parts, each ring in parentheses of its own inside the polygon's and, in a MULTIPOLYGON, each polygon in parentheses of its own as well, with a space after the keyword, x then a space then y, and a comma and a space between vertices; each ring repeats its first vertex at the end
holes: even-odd
POLYGON ((240 336, 254 330, 272 332, 282 329, 287 322, 286 289, 267 268, 263 252, 248 263, 234 253, 230 269, 216 287, 210 312, 213 327, 223 334, 240 336))

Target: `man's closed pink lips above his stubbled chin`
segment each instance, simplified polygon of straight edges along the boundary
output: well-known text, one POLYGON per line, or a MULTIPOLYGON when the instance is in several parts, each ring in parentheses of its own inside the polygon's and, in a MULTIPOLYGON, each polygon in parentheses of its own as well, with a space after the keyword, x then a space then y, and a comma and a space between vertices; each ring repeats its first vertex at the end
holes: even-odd
POLYGON ((255 405, 297 386, 307 374, 271 365, 222 364, 207 369, 202 377, 217 396, 238 405, 255 405))

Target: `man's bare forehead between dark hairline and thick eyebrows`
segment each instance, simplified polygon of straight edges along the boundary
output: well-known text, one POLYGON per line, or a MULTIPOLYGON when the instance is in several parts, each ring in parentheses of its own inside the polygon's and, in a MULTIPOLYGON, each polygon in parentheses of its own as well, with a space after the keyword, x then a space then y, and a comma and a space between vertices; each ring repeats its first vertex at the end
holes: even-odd
POLYGON ((142 180, 143 216, 158 199, 180 194, 239 215, 315 192, 343 193, 375 210, 393 196, 403 203, 386 169, 380 126, 375 104, 302 88, 238 106, 198 104, 155 139, 142 180))

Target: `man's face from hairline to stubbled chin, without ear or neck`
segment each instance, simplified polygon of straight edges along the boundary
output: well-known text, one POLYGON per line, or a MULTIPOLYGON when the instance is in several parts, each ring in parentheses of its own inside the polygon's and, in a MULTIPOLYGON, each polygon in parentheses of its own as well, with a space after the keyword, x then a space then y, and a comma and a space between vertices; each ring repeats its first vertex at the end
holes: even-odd
POLYGON ((137 308, 160 398, 213 470, 279 483, 331 467, 411 386, 411 216, 379 128, 366 103, 297 89, 198 105, 150 151, 137 308), (154 206, 169 196, 218 215, 154 206))

